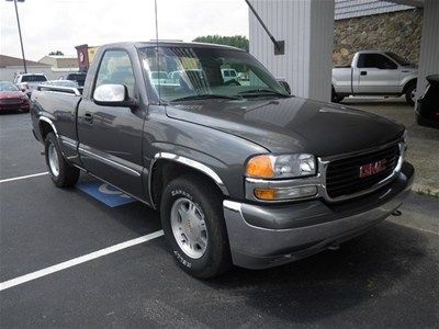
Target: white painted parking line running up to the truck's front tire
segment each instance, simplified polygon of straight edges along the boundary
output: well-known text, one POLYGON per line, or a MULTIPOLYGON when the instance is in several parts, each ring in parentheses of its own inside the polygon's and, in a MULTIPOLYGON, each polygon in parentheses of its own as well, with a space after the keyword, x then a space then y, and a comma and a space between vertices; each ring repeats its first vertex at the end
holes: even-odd
POLYGON ((35 279, 38 279, 38 277, 42 277, 42 276, 46 276, 46 275, 53 274, 55 272, 58 272, 58 271, 61 271, 61 270, 65 270, 65 269, 71 268, 71 266, 76 266, 78 264, 91 261, 93 259, 97 259, 97 258, 100 258, 100 257, 103 257, 103 256, 120 251, 122 249, 126 249, 126 248, 130 248, 130 247, 133 247, 133 246, 136 246, 136 245, 144 243, 146 241, 159 238, 162 235, 164 235, 164 231, 160 229, 160 230, 157 230, 157 231, 151 232, 149 235, 142 236, 142 237, 136 238, 136 239, 132 239, 132 240, 128 240, 128 241, 125 241, 125 242, 122 242, 122 243, 119 243, 119 245, 114 245, 114 246, 111 246, 111 247, 108 247, 108 248, 104 248, 104 249, 101 249, 101 250, 98 250, 98 251, 94 251, 94 252, 91 252, 91 253, 75 258, 75 259, 71 259, 71 260, 68 260, 68 261, 65 261, 65 262, 59 263, 59 264, 45 268, 43 270, 33 272, 33 273, 29 273, 29 274, 25 274, 25 275, 15 277, 15 279, 11 279, 11 280, 1 282, 0 283, 0 292, 4 291, 7 288, 13 287, 15 285, 20 285, 20 284, 33 281, 35 279))

